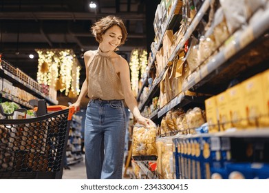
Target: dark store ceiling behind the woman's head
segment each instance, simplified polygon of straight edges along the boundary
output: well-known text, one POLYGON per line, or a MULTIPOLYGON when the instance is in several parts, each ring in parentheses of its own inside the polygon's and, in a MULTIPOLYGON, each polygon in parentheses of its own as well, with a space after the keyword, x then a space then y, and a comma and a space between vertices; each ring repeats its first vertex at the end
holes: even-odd
POLYGON ((83 52, 98 46, 89 28, 96 19, 109 14, 121 17, 127 26, 127 42, 118 51, 122 57, 128 61, 134 48, 149 50, 154 38, 152 21, 160 1, 95 2, 96 10, 89 8, 88 0, 1 0, 0 52, 3 59, 36 79, 38 55, 35 48, 72 48, 83 67, 80 79, 84 80, 83 52), (29 54, 34 54, 34 59, 30 59, 29 54))

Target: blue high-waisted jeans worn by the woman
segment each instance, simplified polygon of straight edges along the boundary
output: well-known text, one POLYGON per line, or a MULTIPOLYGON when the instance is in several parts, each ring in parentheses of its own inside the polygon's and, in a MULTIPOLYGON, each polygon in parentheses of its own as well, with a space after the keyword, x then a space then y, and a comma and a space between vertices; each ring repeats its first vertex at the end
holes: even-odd
POLYGON ((122 178, 125 125, 123 101, 89 101, 85 119, 87 179, 122 178))

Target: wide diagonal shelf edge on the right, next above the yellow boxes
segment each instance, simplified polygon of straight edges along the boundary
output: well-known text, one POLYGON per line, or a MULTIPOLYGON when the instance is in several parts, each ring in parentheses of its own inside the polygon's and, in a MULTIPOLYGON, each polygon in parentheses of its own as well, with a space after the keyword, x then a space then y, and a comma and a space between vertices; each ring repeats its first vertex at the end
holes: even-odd
MULTIPOLYGON (((182 91, 195 90, 202 84, 209 81, 208 77, 211 77, 213 72, 219 74, 224 68, 224 65, 231 59, 235 54, 238 54, 241 50, 244 50, 247 45, 255 41, 263 35, 269 29, 269 9, 264 10, 264 13, 259 18, 259 22, 252 23, 249 25, 237 39, 231 41, 224 50, 221 50, 211 61, 206 63, 200 68, 198 72, 191 74, 182 85, 182 91)), ((226 64, 227 65, 227 64, 226 64)))

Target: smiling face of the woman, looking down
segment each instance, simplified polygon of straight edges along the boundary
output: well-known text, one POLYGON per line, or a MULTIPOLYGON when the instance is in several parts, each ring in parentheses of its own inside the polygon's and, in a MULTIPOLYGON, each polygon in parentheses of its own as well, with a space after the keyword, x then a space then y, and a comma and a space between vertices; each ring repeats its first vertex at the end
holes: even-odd
POLYGON ((120 45, 122 30, 119 26, 112 26, 102 35, 103 41, 100 42, 103 51, 115 50, 120 45))

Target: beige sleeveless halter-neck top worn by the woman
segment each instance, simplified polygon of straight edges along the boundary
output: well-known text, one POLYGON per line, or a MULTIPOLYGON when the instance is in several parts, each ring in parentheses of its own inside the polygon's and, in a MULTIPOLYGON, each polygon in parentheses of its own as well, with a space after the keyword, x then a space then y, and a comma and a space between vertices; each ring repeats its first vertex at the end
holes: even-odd
POLYGON ((89 64, 89 99, 124 99, 120 77, 115 71, 110 57, 111 52, 102 52, 99 48, 89 64))

